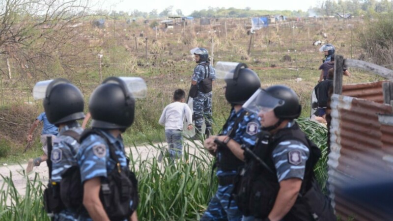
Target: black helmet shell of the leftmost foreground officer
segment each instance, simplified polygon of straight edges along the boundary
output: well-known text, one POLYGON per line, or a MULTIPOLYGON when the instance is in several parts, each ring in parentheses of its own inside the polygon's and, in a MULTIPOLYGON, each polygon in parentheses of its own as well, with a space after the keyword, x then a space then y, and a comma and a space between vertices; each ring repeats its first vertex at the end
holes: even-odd
POLYGON ((43 106, 48 121, 56 126, 84 118, 83 95, 66 79, 58 78, 48 85, 43 106))

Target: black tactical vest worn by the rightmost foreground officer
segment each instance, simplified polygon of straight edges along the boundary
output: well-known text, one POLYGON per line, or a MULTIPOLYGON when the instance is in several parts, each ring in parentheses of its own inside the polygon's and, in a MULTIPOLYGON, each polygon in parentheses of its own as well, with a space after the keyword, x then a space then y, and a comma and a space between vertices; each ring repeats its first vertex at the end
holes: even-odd
POLYGON ((319 160, 321 152, 300 130, 298 124, 281 129, 270 136, 267 132, 259 134, 253 153, 263 161, 256 162, 250 154, 246 154, 246 166, 235 178, 232 193, 239 209, 245 216, 266 218, 273 209, 280 184, 272 159, 274 148, 285 140, 298 140, 309 148, 309 159, 306 162, 305 176, 295 204, 283 218, 284 221, 336 221, 330 200, 318 187, 313 167, 319 160))

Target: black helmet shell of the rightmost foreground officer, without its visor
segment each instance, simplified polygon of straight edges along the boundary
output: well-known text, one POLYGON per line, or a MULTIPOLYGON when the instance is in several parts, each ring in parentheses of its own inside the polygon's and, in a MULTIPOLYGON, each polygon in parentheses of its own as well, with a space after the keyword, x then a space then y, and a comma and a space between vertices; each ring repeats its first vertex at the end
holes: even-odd
POLYGON ((300 116, 302 106, 299 104, 298 95, 291 88, 284 85, 274 85, 266 88, 266 93, 281 100, 282 105, 274 108, 274 114, 280 119, 295 119, 300 116))

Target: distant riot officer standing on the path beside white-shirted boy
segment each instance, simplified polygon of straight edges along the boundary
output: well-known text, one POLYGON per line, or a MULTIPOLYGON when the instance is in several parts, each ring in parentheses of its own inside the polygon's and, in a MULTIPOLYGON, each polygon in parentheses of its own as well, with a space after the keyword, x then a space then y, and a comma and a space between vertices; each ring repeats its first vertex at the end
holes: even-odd
POLYGON ((208 137, 212 131, 212 86, 216 80, 213 66, 210 64, 209 53, 204 48, 191 50, 195 55, 197 66, 191 81, 190 97, 193 98, 193 111, 196 135, 194 139, 201 137, 203 121, 206 124, 205 134, 208 137))

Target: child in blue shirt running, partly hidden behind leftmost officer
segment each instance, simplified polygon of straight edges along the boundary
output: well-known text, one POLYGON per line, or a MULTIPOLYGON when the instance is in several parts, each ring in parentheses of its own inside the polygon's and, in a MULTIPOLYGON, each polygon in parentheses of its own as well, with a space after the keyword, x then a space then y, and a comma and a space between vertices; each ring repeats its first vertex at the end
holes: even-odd
POLYGON ((44 154, 41 157, 37 157, 35 159, 31 158, 28 160, 26 174, 30 173, 33 170, 34 166, 40 166, 40 164, 42 162, 44 162, 48 159, 48 149, 47 149, 47 142, 46 142, 47 137, 52 136, 52 140, 54 140, 54 138, 56 138, 56 136, 58 134, 57 127, 55 125, 49 123, 48 118, 46 117, 46 113, 42 112, 35 119, 33 125, 31 125, 31 128, 28 131, 28 142, 31 142, 33 140, 32 133, 41 121, 44 123, 44 126, 42 128, 40 142, 42 144, 42 150, 44 151, 44 154))

